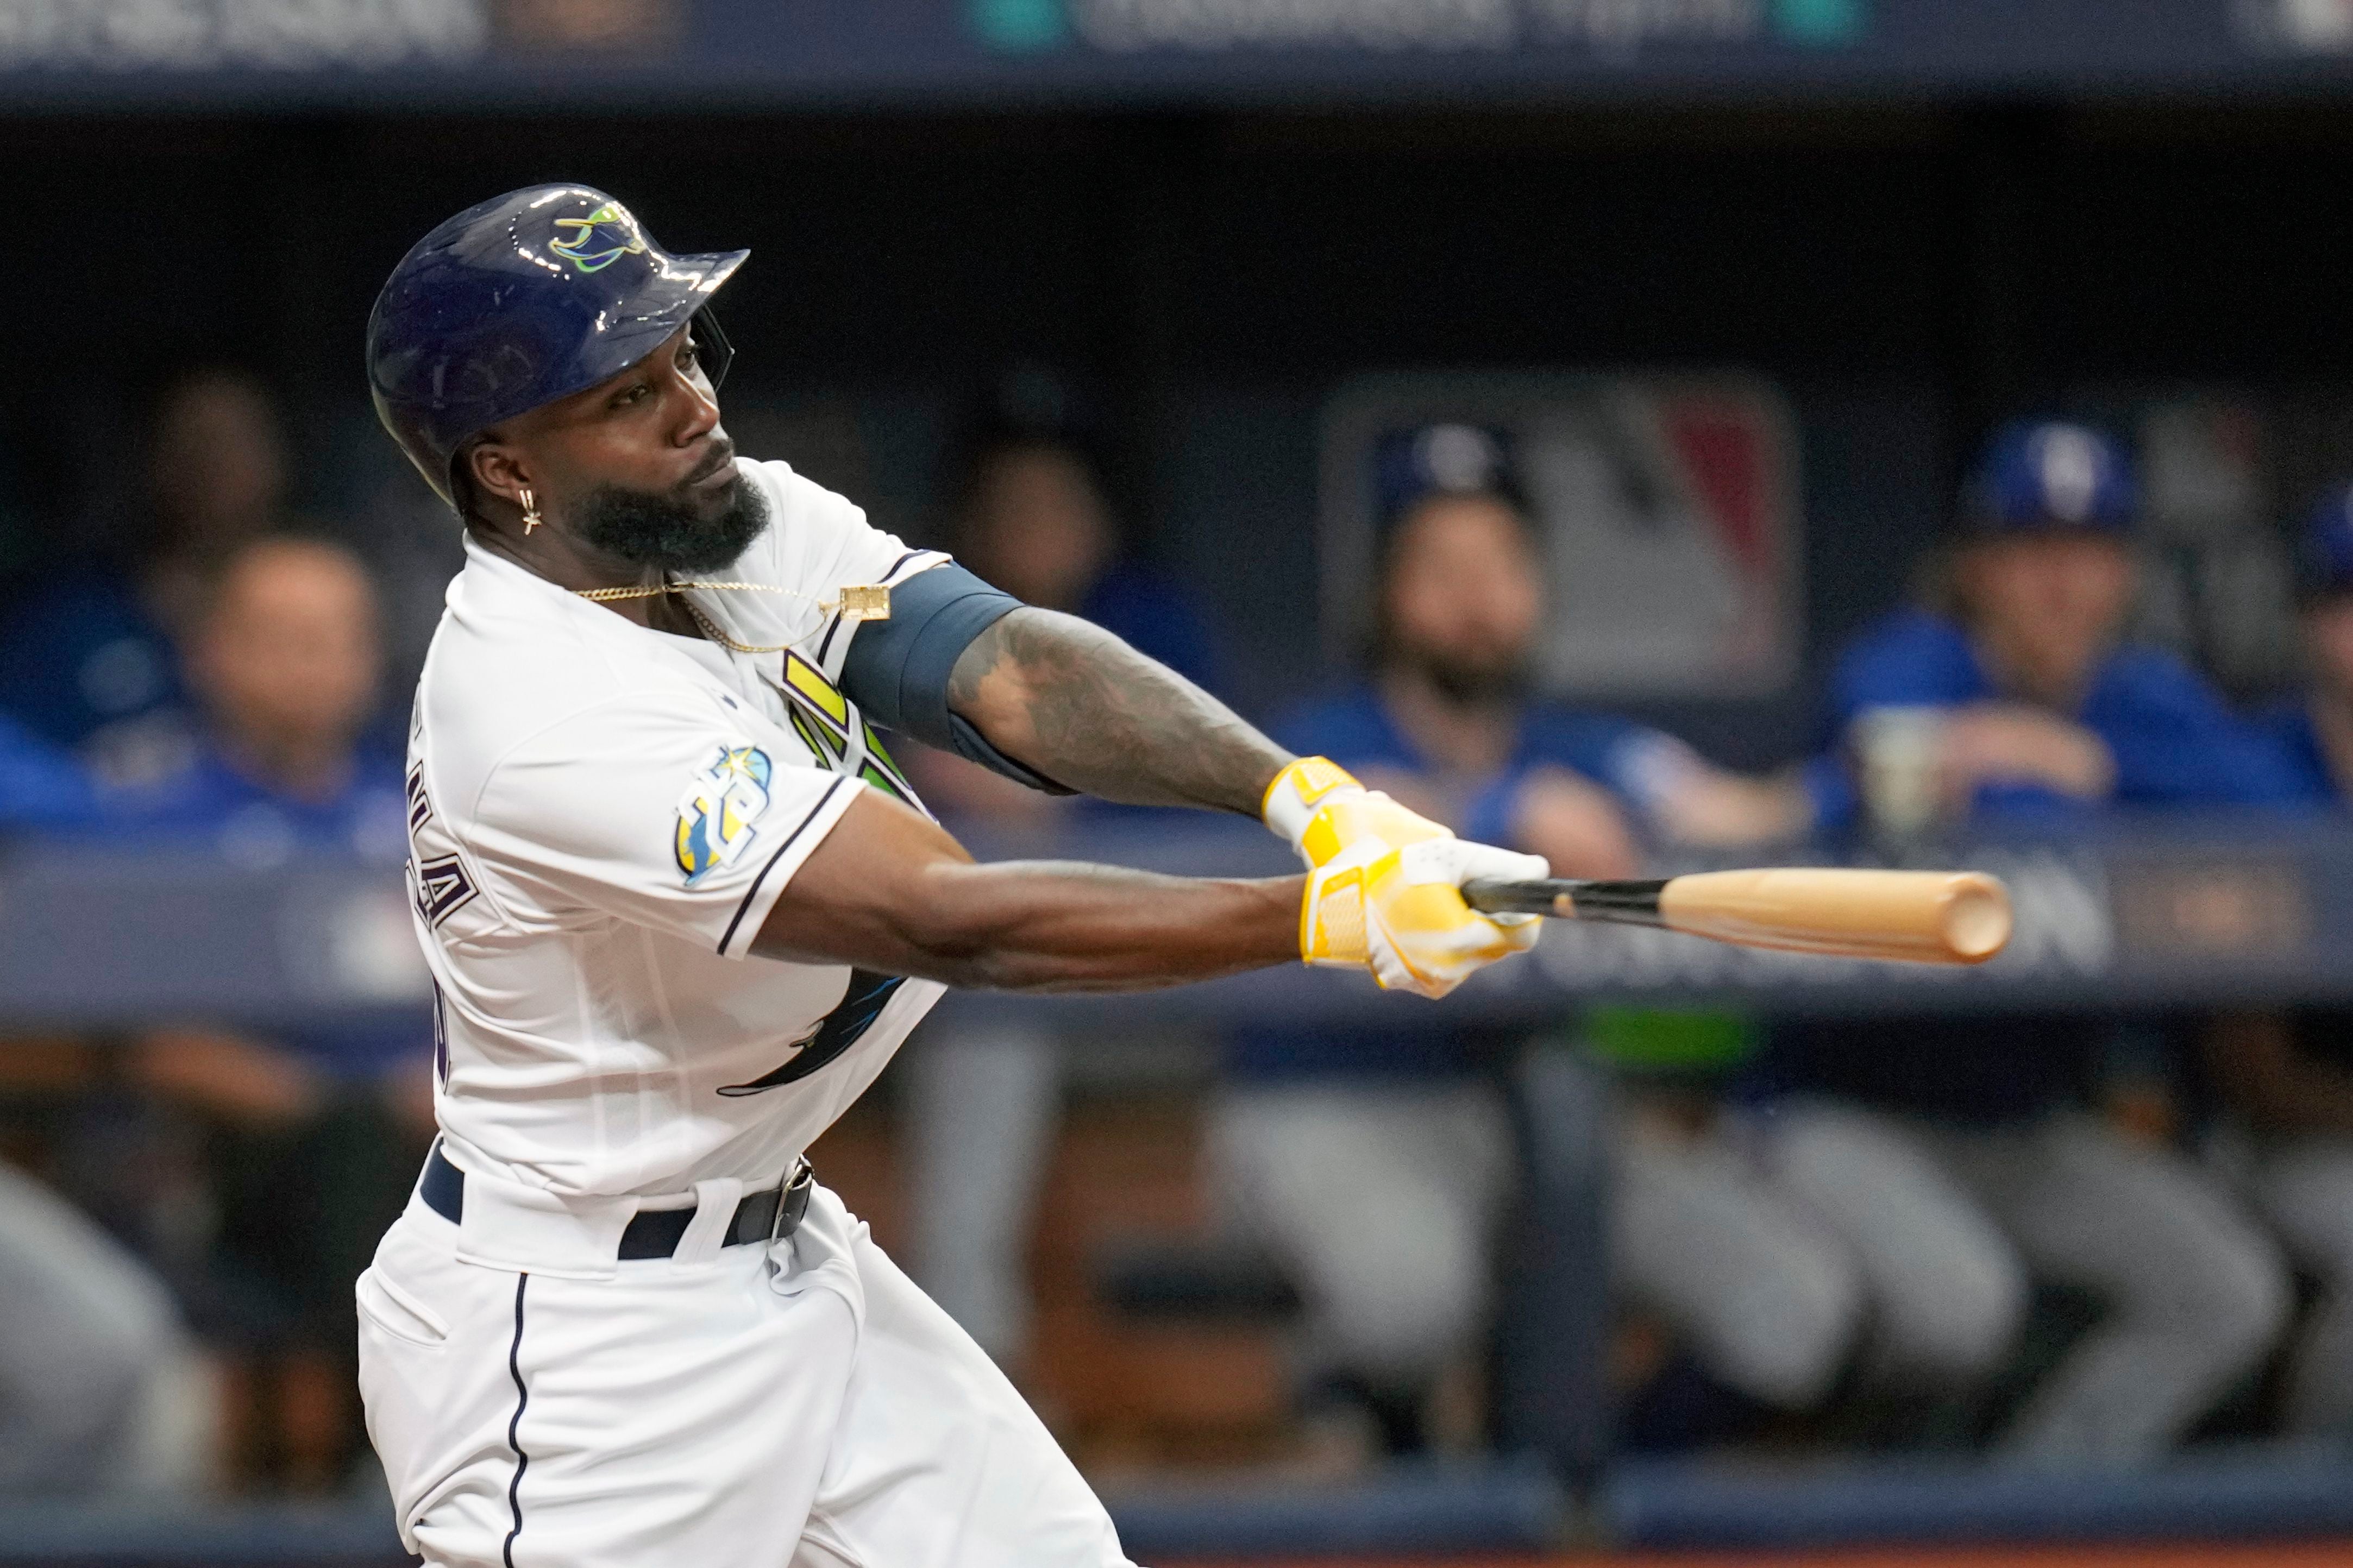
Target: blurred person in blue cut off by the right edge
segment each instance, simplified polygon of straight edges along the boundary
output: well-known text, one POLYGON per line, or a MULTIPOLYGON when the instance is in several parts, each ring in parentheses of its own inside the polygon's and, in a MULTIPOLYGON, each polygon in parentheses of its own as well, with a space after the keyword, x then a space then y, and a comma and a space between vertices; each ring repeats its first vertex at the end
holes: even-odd
MULTIPOLYGON (((2341 809, 2353 802, 2353 489, 2315 508, 2299 564, 2306 689, 2266 726, 2306 797, 2341 809)), ((2205 1046, 2231 1112, 2217 1152, 2320 1284, 2287 1368, 2287 1427, 2353 1436, 2353 1009, 2224 1016, 2205 1046)))

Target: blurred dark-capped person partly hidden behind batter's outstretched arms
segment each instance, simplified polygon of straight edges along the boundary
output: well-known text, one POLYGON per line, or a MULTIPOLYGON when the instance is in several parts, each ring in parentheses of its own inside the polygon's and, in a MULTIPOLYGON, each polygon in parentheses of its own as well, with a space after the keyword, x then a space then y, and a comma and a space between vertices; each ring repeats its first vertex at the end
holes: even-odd
MULTIPOLYGON (((1115 632, 1207 691, 1221 656, 1191 595, 1134 562, 1082 447, 1052 423, 995 418, 951 482, 958 562, 1024 604, 1115 632)), ((1136 809, 1026 790, 911 748, 925 802, 953 827, 1049 832, 1136 809)), ((1059 1126, 1064 1041, 1033 1023, 939 1020, 904 1074, 915 1276, 998 1366, 1021 1371, 1031 1331, 1028 1234, 1059 1126)))

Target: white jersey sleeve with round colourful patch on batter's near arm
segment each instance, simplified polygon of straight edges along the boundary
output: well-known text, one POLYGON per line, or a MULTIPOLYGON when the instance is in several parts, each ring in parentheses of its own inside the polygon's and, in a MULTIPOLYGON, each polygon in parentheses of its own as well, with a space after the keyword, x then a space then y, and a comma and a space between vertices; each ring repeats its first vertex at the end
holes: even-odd
POLYGON ((774 724, 694 693, 612 698, 492 769, 473 849, 518 919, 614 917, 739 959, 866 788, 798 755, 774 724))

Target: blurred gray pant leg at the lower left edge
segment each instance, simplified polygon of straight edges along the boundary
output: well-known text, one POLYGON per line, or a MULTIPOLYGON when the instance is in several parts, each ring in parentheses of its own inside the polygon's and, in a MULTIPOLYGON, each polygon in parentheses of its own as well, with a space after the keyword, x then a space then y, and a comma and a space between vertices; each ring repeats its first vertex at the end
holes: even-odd
POLYGON ((0 1164, 0 1495, 186 1493, 205 1403, 162 1284, 0 1164))

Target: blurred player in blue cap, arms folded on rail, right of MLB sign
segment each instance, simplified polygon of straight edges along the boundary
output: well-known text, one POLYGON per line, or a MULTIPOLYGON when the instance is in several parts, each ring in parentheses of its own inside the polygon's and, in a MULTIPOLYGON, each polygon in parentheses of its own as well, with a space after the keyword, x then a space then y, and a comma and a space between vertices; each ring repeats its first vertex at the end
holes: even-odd
MULTIPOLYGON (((1946 820, 1972 825, 2285 802, 2275 748, 2188 665, 2122 644, 2134 510, 2097 430, 1998 433, 1941 604, 1838 661, 1838 743, 1868 748, 1875 710, 1929 715, 1946 820)), ((1845 769, 1814 771, 1833 813, 1845 769)), ((2172 1065, 2162 1023, 2099 1016, 1779 1032, 1769 1074, 1793 1093, 1762 1119, 1762 1152, 1852 1251, 1882 1387, 1981 1387, 2033 1281, 2097 1295, 2101 1316, 1998 1434, 2009 1458, 2155 1460, 2261 1366, 2289 1309, 2285 1262, 2169 1147, 2172 1065)))

